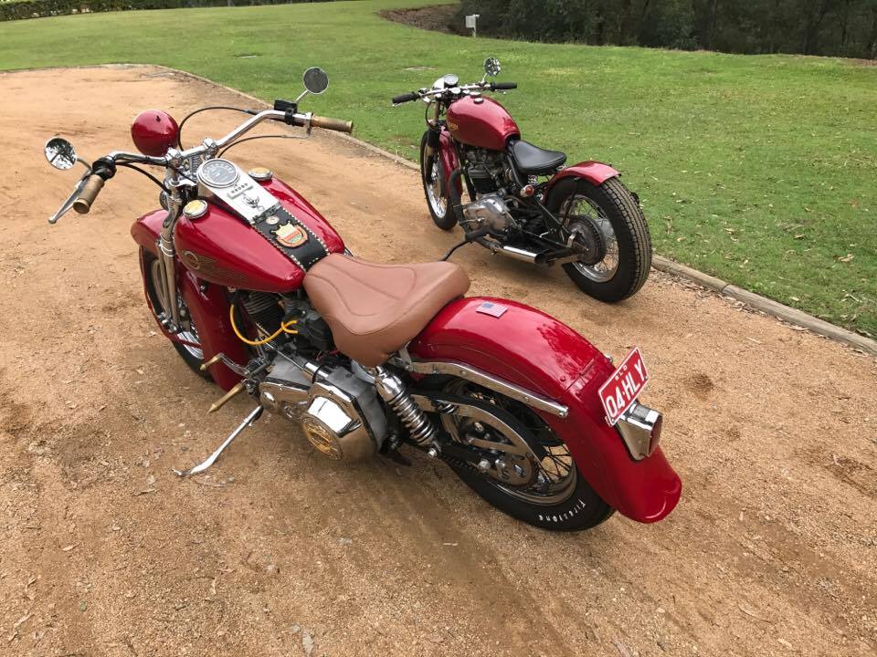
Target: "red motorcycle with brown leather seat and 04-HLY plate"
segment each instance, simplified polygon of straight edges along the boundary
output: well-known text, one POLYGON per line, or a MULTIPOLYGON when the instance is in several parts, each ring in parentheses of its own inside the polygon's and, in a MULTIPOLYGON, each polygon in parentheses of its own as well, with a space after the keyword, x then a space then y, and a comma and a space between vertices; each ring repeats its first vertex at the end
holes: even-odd
POLYGON ((354 257, 269 169, 246 172, 224 157, 264 121, 304 137, 314 127, 351 131, 299 111, 306 93, 327 85, 322 70, 309 69, 298 99, 240 110, 251 116, 238 128, 188 149, 185 120, 178 127, 157 110, 132 124, 140 152, 89 164, 69 141, 46 145, 58 169, 87 168, 51 223, 70 208, 88 213, 122 169, 161 188, 163 209, 131 229, 146 303, 189 367, 227 391, 211 411, 241 392, 256 401, 206 461, 175 472, 204 472, 269 411, 300 422, 331 459, 382 454, 405 463, 403 445, 420 450, 537 527, 594 527, 616 509, 640 522, 669 514, 681 483, 658 446, 660 413, 635 400, 636 385, 621 390, 610 360, 586 339, 513 301, 463 297, 469 278, 452 263, 354 257), (164 168, 164 177, 141 164, 164 168), (622 395, 609 406, 599 394, 607 386, 622 395))

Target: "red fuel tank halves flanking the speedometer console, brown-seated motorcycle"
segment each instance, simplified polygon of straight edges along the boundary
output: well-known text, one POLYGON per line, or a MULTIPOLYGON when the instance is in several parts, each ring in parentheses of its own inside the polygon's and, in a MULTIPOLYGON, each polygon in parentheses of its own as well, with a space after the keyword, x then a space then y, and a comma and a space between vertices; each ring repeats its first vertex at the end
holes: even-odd
MULTIPOLYGON (((344 243, 333 227, 286 183, 262 185, 295 217, 318 235, 330 253, 343 253, 344 243)), ((259 292, 291 292, 301 287, 304 270, 259 232, 218 204, 197 219, 185 215, 176 224, 176 252, 195 276, 225 287, 259 292)))

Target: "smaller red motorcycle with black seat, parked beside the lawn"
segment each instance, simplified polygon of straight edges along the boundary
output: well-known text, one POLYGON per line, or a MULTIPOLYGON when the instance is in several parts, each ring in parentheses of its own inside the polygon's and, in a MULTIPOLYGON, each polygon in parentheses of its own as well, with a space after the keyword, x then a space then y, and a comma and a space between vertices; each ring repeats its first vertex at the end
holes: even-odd
POLYGON ((456 224, 494 254, 540 265, 563 265, 591 297, 620 301, 646 282, 649 226, 639 199, 601 162, 565 167, 565 153, 521 139, 512 116, 485 91, 516 89, 488 82, 500 62, 484 62, 481 82, 456 75, 393 99, 423 99, 428 130, 420 141, 420 173, 429 214, 439 228, 456 224), (463 203, 463 183, 469 201, 463 203))

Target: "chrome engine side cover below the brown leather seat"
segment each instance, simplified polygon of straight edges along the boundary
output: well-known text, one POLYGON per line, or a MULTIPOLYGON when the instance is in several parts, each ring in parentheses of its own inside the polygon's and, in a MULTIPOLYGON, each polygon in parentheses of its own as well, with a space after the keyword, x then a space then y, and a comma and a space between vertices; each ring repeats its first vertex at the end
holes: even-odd
POLYGON ((386 438, 386 413, 375 387, 341 366, 312 363, 312 381, 295 363, 278 358, 259 384, 259 403, 292 422, 334 461, 375 455, 386 438))

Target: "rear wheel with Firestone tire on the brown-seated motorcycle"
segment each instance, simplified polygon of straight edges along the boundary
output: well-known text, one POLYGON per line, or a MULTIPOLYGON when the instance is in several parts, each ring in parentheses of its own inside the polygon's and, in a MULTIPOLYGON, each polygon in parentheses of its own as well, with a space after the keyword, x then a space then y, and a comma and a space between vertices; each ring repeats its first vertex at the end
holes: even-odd
POLYGON ((494 462, 486 471, 452 459, 449 465, 492 506, 555 531, 596 527, 613 514, 565 443, 528 406, 468 381, 451 381, 444 390, 476 409, 442 413, 445 431, 457 442, 486 449, 494 462))

